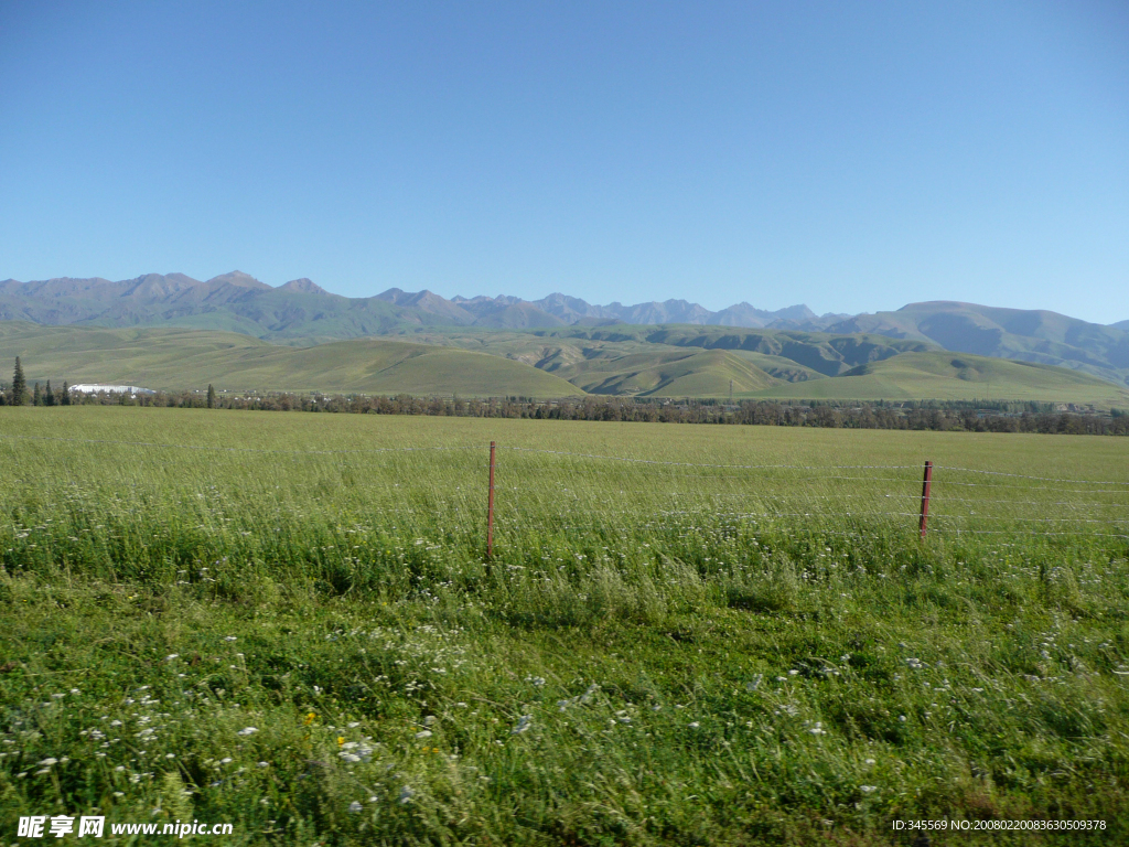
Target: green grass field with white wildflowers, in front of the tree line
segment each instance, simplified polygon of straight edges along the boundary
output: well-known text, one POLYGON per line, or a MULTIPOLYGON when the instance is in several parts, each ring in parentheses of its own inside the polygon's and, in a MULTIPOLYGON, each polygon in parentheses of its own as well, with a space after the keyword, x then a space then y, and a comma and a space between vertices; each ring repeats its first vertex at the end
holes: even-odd
POLYGON ((0 831, 1129 839, 1124 439, 0 412, 0 831))

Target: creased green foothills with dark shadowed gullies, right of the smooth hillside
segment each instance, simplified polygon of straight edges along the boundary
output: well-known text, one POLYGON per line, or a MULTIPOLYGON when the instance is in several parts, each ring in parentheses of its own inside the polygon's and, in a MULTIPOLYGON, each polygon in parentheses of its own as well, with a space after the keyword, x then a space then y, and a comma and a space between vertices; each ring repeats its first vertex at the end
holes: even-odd
POLYGON ((1129 391, 1079 370, 873 334, 616 325, 413 338, 524 361, 599 394, 725 398, 733 379, 738 398, 1129 405, 1129 391))

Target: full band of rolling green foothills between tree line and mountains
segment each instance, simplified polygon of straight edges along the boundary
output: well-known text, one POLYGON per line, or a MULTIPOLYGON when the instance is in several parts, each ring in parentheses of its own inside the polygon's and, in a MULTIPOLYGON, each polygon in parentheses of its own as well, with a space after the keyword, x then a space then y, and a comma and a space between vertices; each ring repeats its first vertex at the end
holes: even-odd
POLYGON ((1129 407, 1129 390, 921 341, 697 326, 421 331, 286 347, 234 332, 0 322, 32 381, 414 395, 1035 400, 1129 407), (411 341, 405 340, 410 338, 411 341))

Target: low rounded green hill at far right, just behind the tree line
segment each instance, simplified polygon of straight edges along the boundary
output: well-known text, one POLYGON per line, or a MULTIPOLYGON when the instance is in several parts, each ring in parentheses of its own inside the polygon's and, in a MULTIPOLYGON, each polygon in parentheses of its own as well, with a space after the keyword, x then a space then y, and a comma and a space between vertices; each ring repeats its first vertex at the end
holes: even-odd
POLYGON ((1041 400, 1129 405, 1129 391, 1067 368, 951 352, 903 353, 756 396, 809 400, 1041 400))

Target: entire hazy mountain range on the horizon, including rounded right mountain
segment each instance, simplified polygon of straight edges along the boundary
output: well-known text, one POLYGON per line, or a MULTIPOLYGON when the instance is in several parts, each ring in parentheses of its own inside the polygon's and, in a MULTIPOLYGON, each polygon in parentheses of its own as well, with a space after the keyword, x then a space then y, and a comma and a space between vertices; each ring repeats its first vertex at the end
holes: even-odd
MULTIPOLYGON (((44 325, 224 330, 291 346, 371 335, 414 335, 413 340, 432 344, 489 347, 487 351, 495 353, 525 344, 498 333, 516 332, 528 341, 567 338, 569 350, 587 344, 585 349, 590 351, 597 342, 606 343, 610 338, 624 334, 615 326, 658 325, 659 330, 645 333, 646 339, 638 333, 628 335, 664 347, 697 346, 741 350, 749 356, 782 356, 782 364, 778 365, 781 373, 809 370, 824 376, 849 369, 846 359, 840 361, 835 359, 838 353, 826 352, 835 347, 831 343, 833 337, 842 339, 842 343, 858 343, 859 337, 882 337, 913 343, 905 350, 866 343, 875 350, 882 347, 889 355, 949 350, 1067 367, 1129 385, 1129 321, 1102 325, 1054 312, 948 300, 910 304, 894 312, 816 315, 804 305, 768 311, 739 303, 711 312, 682 299, 594 305, 563 294, 539 300, 506 295, 447 299, 428 290, 409 292, 391 288, 373 297, 350 298, 331 294, 305 278, 271 287, 233 271, 205 281, 183 273, 150 273, 116 282, 69 277, 32 282, 9 279, 0 282, 0 320, 44 325), (709 329, 680 334, 671 332, 673 324, 709 329), (763 332, 737 332, 739 329, 763 332), (605 338, 601 340, 593 331, 603 332, 605 338), (483 333, 489 333, 489 343, 483 333), (797 342, 795 333, 820 337, 805 335, 797 342), (658 335, 664 340, 656 341, 658 335), (675 337, 677 340, 669 340, 675 337), (847 341, 848 338, 855 341, 847 341), (781 352, 785 349, 800 350, 803 355, 797 352, 798 358, 794 359, 781 352), (808 361, 804 356, 815 358, 808 361), (825 356, 831 356, 826 366, 821 364, 825 356)), ((887 358, 885 352, 875 356, 887 358)), ((596 356, 603 357, 603 352, 596 356)), ((586 385, 585 390, 593 387, 586 385)))

